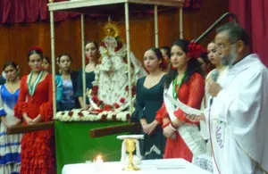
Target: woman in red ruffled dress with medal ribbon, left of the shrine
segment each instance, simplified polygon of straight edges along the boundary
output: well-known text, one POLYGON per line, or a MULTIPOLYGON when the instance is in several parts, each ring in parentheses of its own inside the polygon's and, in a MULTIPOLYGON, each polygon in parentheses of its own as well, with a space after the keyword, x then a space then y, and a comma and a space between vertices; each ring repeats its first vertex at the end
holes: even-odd
MULTIPOLYGON (((42 71, 43 53, 29 51, 29 75, 21 79, 15 116, 30 125, 53 118, 52 76, 42 71)), ((29 132, 21 139, 21 174, 54 174, 54 133, 51 129, 29 132)))

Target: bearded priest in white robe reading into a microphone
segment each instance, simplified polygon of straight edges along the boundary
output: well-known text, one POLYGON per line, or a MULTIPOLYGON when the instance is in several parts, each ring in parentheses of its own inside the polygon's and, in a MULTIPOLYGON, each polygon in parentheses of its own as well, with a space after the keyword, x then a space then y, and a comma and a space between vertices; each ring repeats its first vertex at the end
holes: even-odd
POLYGON ((222 154, 221 163, 214 158, 214 173, 266 173, 268 70, 257 54, 250 54, 250 37, 238 24, 229 22, 217 29, 215 43, 222 64, 229 70, 221 84, 215 82, 216 76, 207 82, 212 98, 204 115, 188 115, 188 119, 206 120, 212 129, 210 115, 216 115, 225 125, 221 136, 216 137, 222 148, 214 151, 212 145, 214 156, 222 154))

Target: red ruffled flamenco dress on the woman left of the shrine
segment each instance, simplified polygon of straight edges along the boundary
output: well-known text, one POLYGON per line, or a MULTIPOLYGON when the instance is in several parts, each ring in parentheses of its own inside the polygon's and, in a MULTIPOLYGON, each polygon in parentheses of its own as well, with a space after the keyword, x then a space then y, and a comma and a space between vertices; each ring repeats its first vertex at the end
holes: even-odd
MULTIPOLYGON (((30 119, 41 115, 40 122, 53 118, 52 75, 38 82, 34 94, 29 95, 28 76, 21 79, 15 116, 22 120, 22 113, 30 119)), ((23 124, 27 124, 23 120, 23 124)), ((54 132, 52 129, 29 132, 21 139, 21 174, 54 174, 54 132)))

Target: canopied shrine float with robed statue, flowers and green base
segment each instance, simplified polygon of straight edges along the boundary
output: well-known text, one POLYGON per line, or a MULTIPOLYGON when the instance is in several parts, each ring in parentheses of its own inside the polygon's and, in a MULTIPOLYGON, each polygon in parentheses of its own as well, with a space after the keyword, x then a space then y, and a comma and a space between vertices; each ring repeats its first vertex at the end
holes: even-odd
MULTIPOLYGON (((114 15, 125 17, 125 42, 120 38, 116 23, 108 21, 104 26, 105 37, 99 47, 101 62, 96 68, 96 81, 91 90, 87 90, 85 73, 83 73, 83 98, 88 97, 90 108, 75 109, 71 112, 56 112, 55 84, 54 91, 54 134, 56 145, 57 173, 61 173, 63 165, 68 163, 86 162, 96 154, 103 154, 105 161, 119 161, 121 143, 116 136, 89 137, 88 131, 93 128, 113 127, 129 124, 130 114, 134 111, 135 83, 145 75, 141 64, 130 51, 130 14, 132 12, 153 12, 155 21, 155 47, 158 47, 158 12, 162 10, 178 10, 180 14, 180 37, 182 37, 182 6, 183 0, 71 0, 63 2, 50 1, 51 58, 52 73, 55 75, 54 12, 80 12, 81 46, 85 46, 84 18, 87 13, 101 14, 113 19, 114 15), (112 57, 112 59, 110 59, 112 57), (116 66, 112 66, 116 62, 116 66), (107 77, 104 71, 113 67, 120 70, 107 77), (106 77, 105 77, 106 76, 106 77), (112 88, 104 86, 108 82, 112 88), (108 93, 106 91, 109 91, 108 93), (114 93, 111 93, 114 91, 114 93)), ((149 14, 151 14, 149 12, 149 14)), ((85 72, 85 50, 81 48, 81 62, 85 72)), ((54 83, 54 80, 53 80, 54 83)))

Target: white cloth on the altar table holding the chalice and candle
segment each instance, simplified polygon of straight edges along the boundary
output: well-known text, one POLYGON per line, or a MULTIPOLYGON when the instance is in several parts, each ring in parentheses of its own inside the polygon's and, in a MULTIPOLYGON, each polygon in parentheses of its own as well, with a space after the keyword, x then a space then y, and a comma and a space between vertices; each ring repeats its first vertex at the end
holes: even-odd
POLYGON ((121 162, 79 163, 64 165, 62 174, 211 174, 183 159, 146 160, 138 171, 123 171, 121 162))

